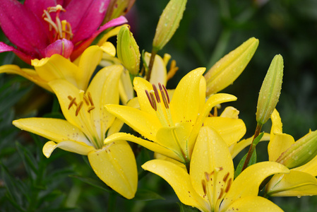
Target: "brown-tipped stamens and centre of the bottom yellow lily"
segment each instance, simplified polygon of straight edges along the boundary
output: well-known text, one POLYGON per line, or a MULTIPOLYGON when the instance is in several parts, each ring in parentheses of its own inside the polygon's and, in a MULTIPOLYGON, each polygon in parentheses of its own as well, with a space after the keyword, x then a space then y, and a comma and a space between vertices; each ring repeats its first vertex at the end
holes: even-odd
POLYGON ((223 197, 229 192, 229 189, 232 185, 232 178, 229 178, 229 172, 227 172, 227 174, 222 177, 222 179, 218 179, 218 174, 222 170, 222 167, 217 167, 215 170, 213 170, 213 172, 205 172, 205 179, 201 180, 203 192, 205 194, 203 197, 208 197, 210 207, 212 207, 213 211, 218 211, 223 197), (217 189, 219 186, 220 189, 217 189))

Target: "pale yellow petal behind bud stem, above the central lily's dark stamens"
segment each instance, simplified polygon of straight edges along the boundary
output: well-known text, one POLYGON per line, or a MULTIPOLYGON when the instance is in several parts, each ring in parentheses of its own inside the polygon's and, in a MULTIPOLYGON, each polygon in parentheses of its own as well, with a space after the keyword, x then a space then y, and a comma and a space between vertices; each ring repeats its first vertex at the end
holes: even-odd
MULTIPOLYGON (((145 62, 147 64, 150 63, 151 54, 145 52, 145 62)), ((152 66, 152 72, 150 76, 150 83, 157 85, 161 83, 162 85, 166 86, 167 83, 167 70, 165 61, 159 55, 155 55, 154 64, 152 66)))

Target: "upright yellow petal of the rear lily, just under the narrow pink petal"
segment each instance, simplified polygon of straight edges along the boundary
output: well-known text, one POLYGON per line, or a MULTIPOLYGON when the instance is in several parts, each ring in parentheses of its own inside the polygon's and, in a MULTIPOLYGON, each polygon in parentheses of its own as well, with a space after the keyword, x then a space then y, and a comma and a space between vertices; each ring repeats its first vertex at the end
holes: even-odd
POLYGON ((98 46, 90 46, 80 55, 78 71, 76 72, 76 82, 80 90, 86 90, 92 73, 102 58, 102 49, 98 46))

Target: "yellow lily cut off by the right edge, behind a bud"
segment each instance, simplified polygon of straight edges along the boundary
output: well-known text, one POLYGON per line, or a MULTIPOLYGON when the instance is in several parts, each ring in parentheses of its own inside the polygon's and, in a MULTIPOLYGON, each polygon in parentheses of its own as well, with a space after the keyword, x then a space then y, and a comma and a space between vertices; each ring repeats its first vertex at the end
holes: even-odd
MULTIPOLYGON (((282 133, 282 122, 277 110, 274 110, 271 119, 272 129, 270 132, 270 143, 268 143, 268 155, 270 161, 279 161, 282 153, 285 153, 287 149, 298 141, 295 142, 292 136, 282 133)), ((311 151, 311 148, 307 149, 306 155, 311 154, 311 151)), ((296 155, 294 156, 296 157, 296 155)), ((300 160, 300 158, 297 160, 300 160)), ((265 190, 269 196, 317 195, 316 176, 317 155, 308 163, 291 169, 287 175, 274 175, 265 190)))

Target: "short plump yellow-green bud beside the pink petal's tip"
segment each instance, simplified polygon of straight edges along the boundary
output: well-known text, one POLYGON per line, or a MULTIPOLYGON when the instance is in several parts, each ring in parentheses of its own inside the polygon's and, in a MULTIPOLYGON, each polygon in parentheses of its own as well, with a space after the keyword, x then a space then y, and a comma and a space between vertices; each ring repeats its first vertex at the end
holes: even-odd
POLYGON ((127 26, 123 26, 116 40, 116 54, 126 69, 137 75, 140 69, 140 51, 127 26))

